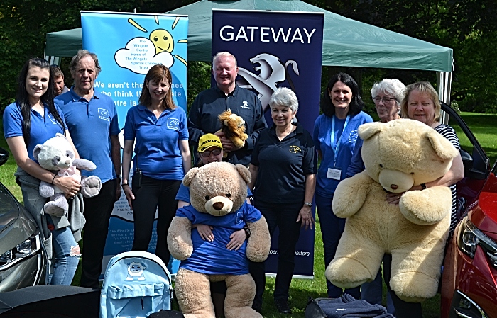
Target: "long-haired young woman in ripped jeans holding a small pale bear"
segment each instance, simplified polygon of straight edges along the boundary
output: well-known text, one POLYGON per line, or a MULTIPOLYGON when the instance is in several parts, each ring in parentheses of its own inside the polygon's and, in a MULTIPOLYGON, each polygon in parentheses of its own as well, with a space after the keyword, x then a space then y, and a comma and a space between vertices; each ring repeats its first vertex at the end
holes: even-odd
MULTIPOLYGON (((4 135, 18 165, 16 181, 21 186, 24 206, 31 212, 49 256, 55 256, 54 269, 47 277, 53 285, 70 285, 80 259, 79 235, 73 235, 64 217, 43 213, 48 198, 39 193, 40 181, 58 186, 68 198, 80 190, 80 183, 72 177, 60 177, 56 172, 43 169, 35 160, 33 149, 37 144, 64 134, 76 157, 77 151, 67 131, 60 109, 53 103, 53 77, 45 59, 33 58, 24 64, 18 79, 16 101, 4 111, 4 135)), ((66 219, 68 217, 65 217, 66 219)), ((77 232, 79 233, 79 232, 77 232)))

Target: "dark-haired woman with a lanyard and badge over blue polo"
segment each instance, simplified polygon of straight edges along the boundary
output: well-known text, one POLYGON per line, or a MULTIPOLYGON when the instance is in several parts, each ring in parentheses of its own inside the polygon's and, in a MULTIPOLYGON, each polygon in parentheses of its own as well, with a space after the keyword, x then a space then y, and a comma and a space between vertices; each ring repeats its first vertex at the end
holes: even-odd
MULTIPOLYGON (((345 73, 339 73, 329 80, 321 100, 323 112, 316 119, 312 139, 321 159, 317 170, 316 206, 320 217, 324 245, 325 268, 337 251, 338 242, 344 232, 345 219, 336 217, 332 210, 335 188, 346 176, 358 135, 357 129, 373 119, 364 113, 364 102, 356 81, 345 73)), ((326 281, 328 297, 337 298, 344 293, 342 288, 326 281)), ((359 288, 345 290, 359 298, 359 288)))

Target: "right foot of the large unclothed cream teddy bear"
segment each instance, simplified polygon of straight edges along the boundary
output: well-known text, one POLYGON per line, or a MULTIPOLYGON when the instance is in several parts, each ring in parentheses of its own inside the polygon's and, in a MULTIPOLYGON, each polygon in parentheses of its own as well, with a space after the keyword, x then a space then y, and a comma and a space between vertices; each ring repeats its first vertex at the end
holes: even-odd
POLYGON ((395 294, 406 302, 422 302, 437 294, 438 279, 420 272, 398 273, 391 277, 395 294))

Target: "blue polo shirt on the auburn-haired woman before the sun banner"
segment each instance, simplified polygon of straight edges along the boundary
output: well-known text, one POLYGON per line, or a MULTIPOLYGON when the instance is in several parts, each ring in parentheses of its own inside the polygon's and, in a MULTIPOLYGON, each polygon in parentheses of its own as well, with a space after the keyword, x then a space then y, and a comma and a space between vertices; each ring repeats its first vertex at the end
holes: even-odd
POLYGON ((180 140, 188 140, 185 110, 164 110, 159 118, 143 105, 128 110, 124 140, 136 140, 134 164, 144 176, 182 180, 185 176, 180 140))

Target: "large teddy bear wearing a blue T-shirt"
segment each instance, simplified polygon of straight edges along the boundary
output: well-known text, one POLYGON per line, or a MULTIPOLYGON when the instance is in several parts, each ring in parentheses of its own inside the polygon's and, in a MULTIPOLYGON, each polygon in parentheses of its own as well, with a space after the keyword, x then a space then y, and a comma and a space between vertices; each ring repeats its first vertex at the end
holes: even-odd
POLYGON ((175 293, 187 318, 213 318, 210 282, 226 281, 226 318, 261 317, 252 309, 256 285, 249 274, 249 259, 264 261, 269 254, 268 224, 256 208, 246 203, 249 169, 241 164, 214 162, 191 169, 183 178, 190 187, 192 205, 180 208, 169 227, 168 246, 179 259, 175 293), (204 241, 192 224, 212 227, 214 241, 204 241), (245 226, 248 242, 238 251, 226 249, 229 236, 245 226))

